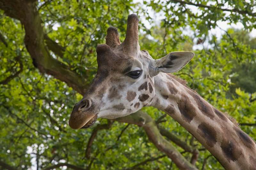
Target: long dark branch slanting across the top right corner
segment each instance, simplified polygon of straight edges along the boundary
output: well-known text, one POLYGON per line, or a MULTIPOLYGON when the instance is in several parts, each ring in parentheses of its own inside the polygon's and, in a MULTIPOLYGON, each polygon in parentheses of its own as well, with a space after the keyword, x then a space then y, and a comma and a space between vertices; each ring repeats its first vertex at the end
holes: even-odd
POLYGON ((252 13, 251 11, 242 11, 242 10, 239 10, 239 9, 236 9, 236 8, 233 8, 232 10, 231 9, 224 9, 224 8, 220 8, 220 7, 217 7, 217 6, 208 6, 208 5, 204 5, 204 4, 195 4, 195 3, 192 3, 192 2, 188 2, 188 1, 182 1, 182 0, 171 0, 170 2, 175 2, 175 3, 180 3, 180 4, 188 4, 188 5, 193 5, 193 6, 197 6, 197 7, 202 7, 202 8, 208 8, 208 9, 218 9, 218 10, 221 10, 221 11, 229 11, 229 12, 237 12, 239 14, 248 14, 250 16, 256 16, 256 13, 252 13))

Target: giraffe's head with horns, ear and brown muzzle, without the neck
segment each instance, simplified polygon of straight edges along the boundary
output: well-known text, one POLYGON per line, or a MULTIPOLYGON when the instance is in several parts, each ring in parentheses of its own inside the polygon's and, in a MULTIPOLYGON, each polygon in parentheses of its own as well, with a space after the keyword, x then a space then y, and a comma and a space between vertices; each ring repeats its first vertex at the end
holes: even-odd
POLYGON ((97 46, 98 71, 84 98, 73 108, 71 128, 87 128, 97 118, 123 117, 149 106, 155 98, 158 73, 176 72, 194 56, 192 52, 172 52, 154 60, 147 51, 140 51, 138 17, 129 15, 127 22, 123 43, 117 29, 110 27, 106 44, 97 46))

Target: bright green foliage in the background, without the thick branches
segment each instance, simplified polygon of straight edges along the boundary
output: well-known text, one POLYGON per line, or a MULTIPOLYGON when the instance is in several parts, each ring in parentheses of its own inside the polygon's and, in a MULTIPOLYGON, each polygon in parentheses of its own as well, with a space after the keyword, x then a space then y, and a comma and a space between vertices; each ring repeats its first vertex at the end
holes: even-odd
MULTIPOLYGON (((251 31, 256 26, 255 6, 253 0, 36 2, 41 25, 48 36, 45 43, 58 43, 57 50, 48 45, 50 54, 86 77, 87 84, 97 71, 95 49, 97 44, 105 43, 107 28, 117 27, 122 41, 127 16, 137 13, 146 21, 139 24, 140 48, 147 49, 155 59, 171 51, 193 51, 194 59, 175 75, 186 80, 188 86, 213 106, 228 112, 254 140, 256 35, 251 31), (152 17, 155 15, 161 15, 159 22, 152 17), (223 34, 218 37, 211 30, 221 27, 221 21, 228 25, 239 22, 243 29, 231 27, 222 30, 223 34), (145 23, 151 27, 148 28, 145 23)), ((20 21, 0 10, 2 162, 17 169, 45 169, 58 163, 86 169, 177 169, 172 160, 148 140, 142 128, 127 123, 112 122, 111 127, 98 130, 87 156, 87 144, 93 131, 108 121, 99 119, 89 129, 69 128, 69 115, 82 95, 34 67, 24 44, 24 36, 20 21)), ((142 110, 156 121, 164 115, 153 107, 142 110)), ((197 168, 223 169, 171 117, 162 117, 161 120, 159 127, 199 151, 195 163, 197 168)), ((166 139, 169 140, 168 136, 166 139)), ((192 153, 174 145, 186 159, 191 159, 192 153)), ((3 164, 0 166, 8 169, 3 164)), ((58 168, 65 169, 67 166, 58 168)))

